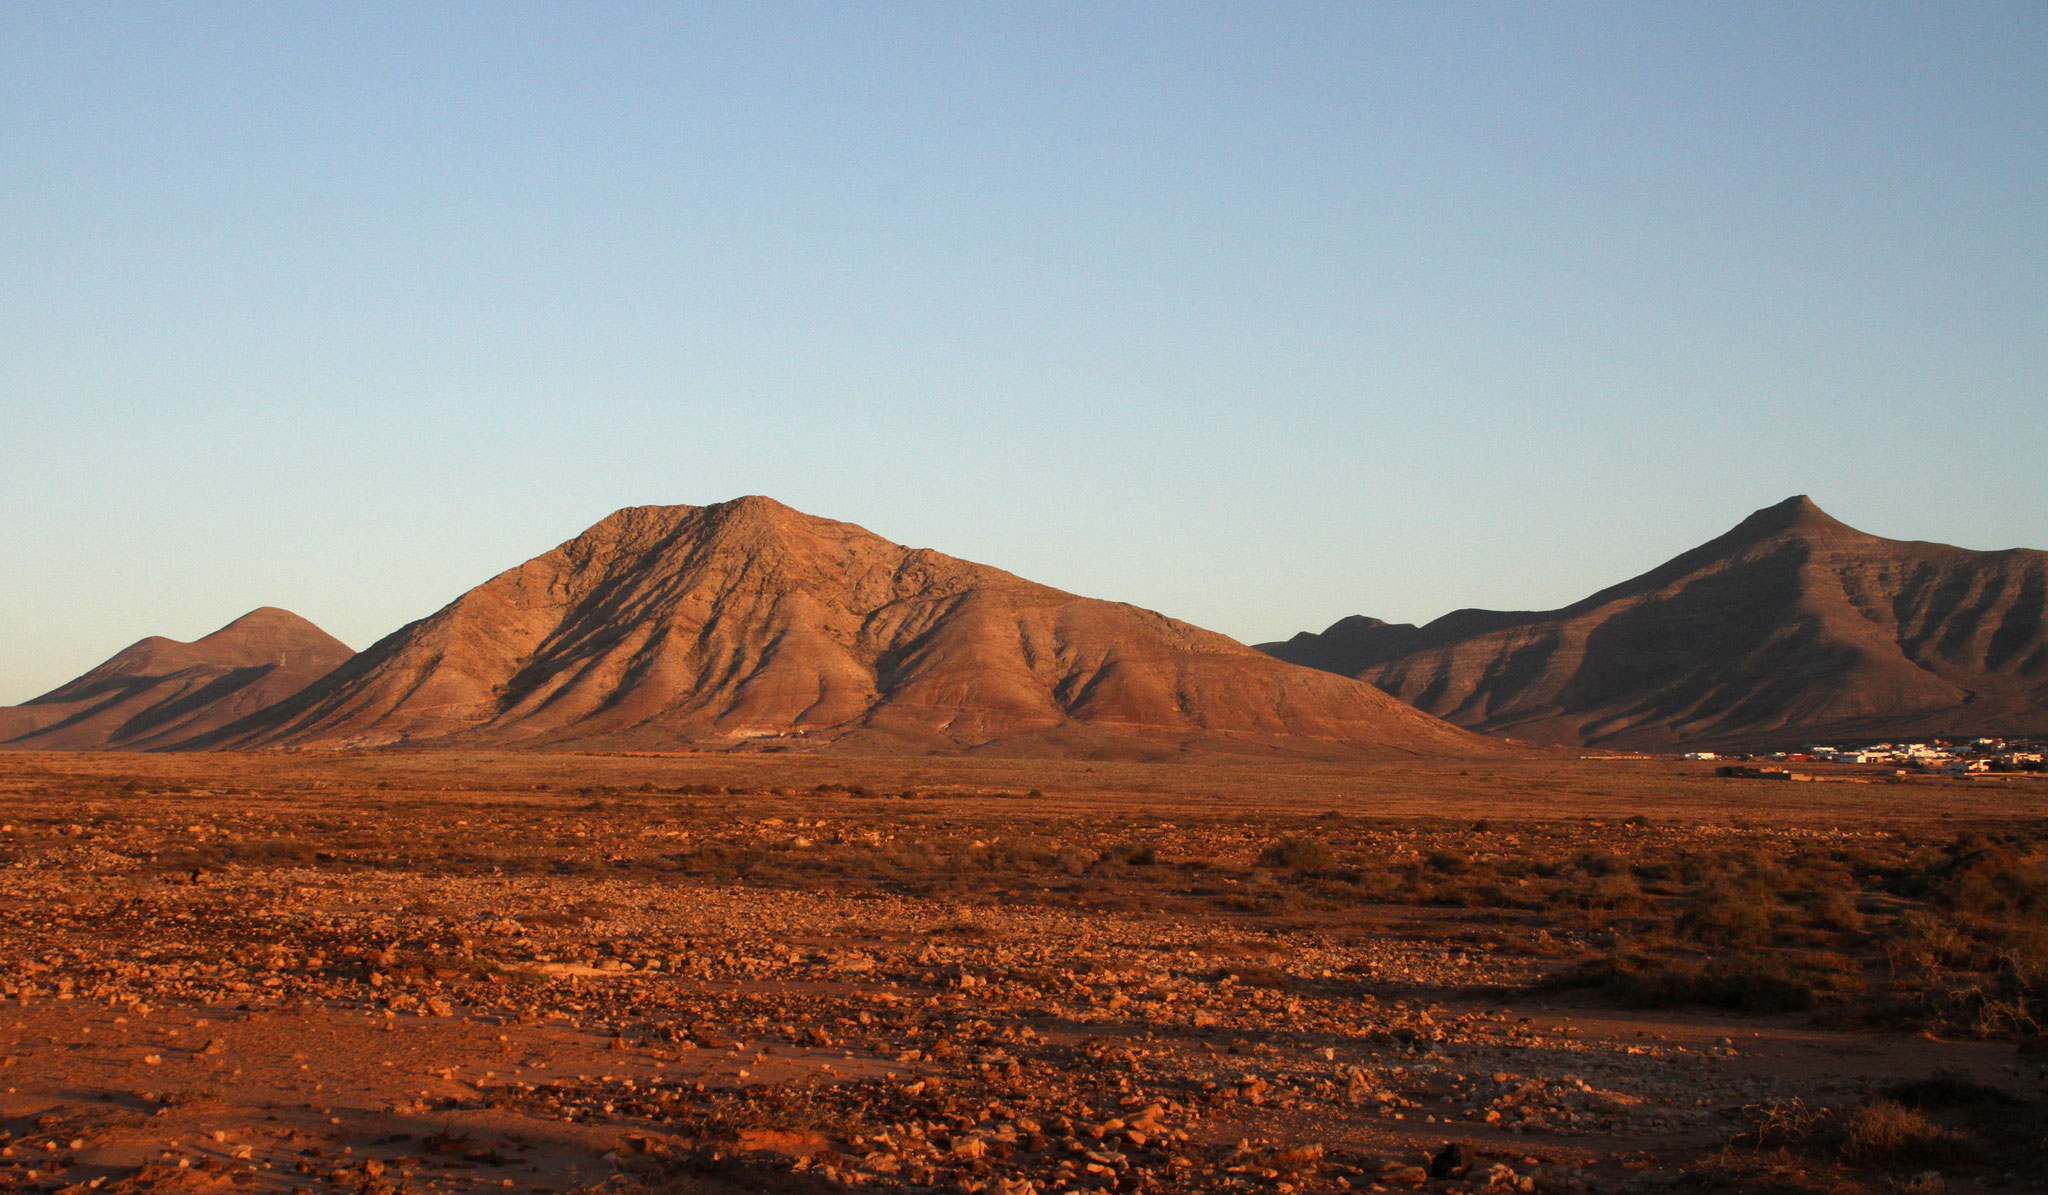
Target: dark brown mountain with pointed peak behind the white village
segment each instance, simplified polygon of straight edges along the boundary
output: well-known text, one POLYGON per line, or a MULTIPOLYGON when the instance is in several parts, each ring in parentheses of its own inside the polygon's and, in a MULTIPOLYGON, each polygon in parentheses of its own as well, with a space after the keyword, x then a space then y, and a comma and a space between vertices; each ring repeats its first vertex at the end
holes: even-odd
POLYGON ((1798 496, 1561 611, 1343 619, 1262 650, 1536 742, 2038 734, 2044 605, 2044 551, 1880 539, 1798 496))

